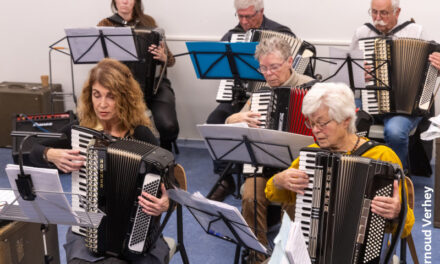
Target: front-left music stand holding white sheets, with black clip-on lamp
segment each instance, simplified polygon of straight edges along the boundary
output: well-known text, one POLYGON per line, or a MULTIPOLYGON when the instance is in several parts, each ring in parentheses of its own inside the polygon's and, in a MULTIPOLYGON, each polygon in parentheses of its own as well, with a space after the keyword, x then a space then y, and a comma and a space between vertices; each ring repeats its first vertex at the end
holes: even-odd
MULTIPOLYGON (((97 228, 105 215, 99 209, 96 213, 73 211, 62 190, 61 182, 56 169, 44 169, 23 166, 22 148, 30 137, 61 138, 60 133, 39 133, 13 131, 12 136, 25 137, 19 149, 19 165, 9 164, 6 173, 11 184, 9 191, 11 199, 1 201, 0 219, 23 222, 41 223, 43 243, 46 245, 46 226, 49 224, 81 225, 97 228)), ((88 208, 87 201, 79 195, 79 200, 88 208)), ((44 263, 50 263, 52 257, 48 255, 44 246, 44 263)))

